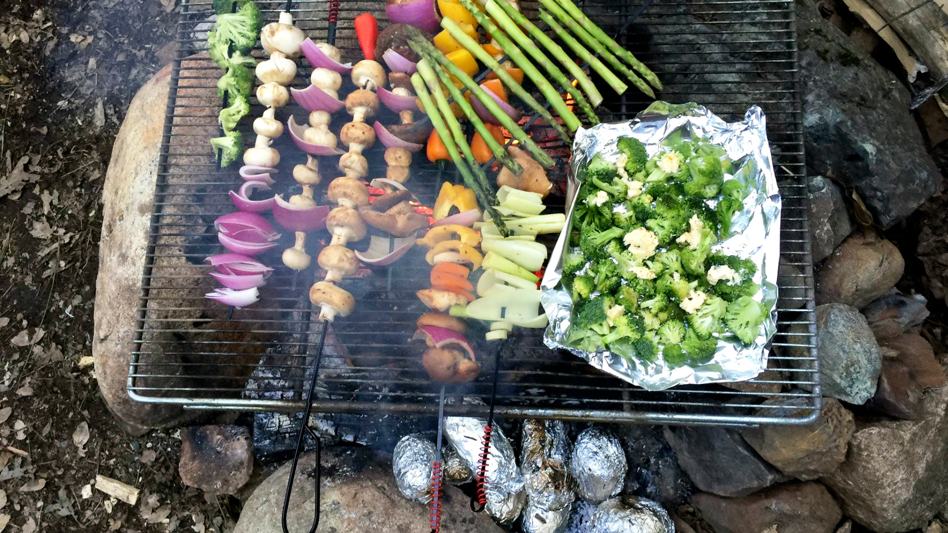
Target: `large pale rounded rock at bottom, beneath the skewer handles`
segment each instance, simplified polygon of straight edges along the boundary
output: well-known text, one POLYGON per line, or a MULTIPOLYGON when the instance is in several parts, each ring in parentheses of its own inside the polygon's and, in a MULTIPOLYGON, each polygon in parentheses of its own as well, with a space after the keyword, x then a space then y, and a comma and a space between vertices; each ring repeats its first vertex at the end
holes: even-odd
MULTIPOLYGON (((314 455, 301 458, 290 499, 287 525, 292 532, 309 531, 315 487, 314 455)), ((395 489, 392 466, 364 448, 322 451, 319 531, 403 533, 428 528, 428 507, 410 502, 395 489)), ((233 533, 282 533, 280 510, 289 464, 274 471, 254 490, 233 533)), ((473 513, 458 487, 445 487, 441 530, 445 533, 501 533, 487 513, 473 513)))

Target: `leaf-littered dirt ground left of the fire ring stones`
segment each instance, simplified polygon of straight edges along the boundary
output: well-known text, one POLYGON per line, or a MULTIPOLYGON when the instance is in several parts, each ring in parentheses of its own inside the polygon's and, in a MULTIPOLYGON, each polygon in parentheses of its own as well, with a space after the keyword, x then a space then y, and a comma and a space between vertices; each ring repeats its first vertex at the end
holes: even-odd
POLYGON ((166 2, 2 2, 0 531, 233 524, 226 500, 181 485, 176 435, 129 436, 78 365, 91 355, 105 168, 129 102, 173 54, 166 2), (97 474, 141 488, 138 504, 90 486, 97 474))

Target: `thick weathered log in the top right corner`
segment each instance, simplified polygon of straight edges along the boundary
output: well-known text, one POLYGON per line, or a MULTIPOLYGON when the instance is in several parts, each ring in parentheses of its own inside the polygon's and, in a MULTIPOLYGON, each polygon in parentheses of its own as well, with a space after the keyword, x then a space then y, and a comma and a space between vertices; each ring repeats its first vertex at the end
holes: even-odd
MULTIPOLYGON (((848 3, 848 2, 847 2, 848 3)), ((932 78, 948 76, 948 6, 920 0, 866 0, 928 66, 932 78)))

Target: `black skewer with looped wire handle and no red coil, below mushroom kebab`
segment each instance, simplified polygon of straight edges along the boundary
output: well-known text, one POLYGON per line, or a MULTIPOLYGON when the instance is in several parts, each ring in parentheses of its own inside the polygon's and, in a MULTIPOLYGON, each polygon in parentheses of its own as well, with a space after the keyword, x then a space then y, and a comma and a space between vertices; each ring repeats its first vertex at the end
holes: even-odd
MULTIPOLYGON (((286 0, 286 8, 284 10, 289 11, 292 6, 293 0, 286 0)), ((339 0, 330 0, 329 2, 329 14, 327 16, 328 26, 326 28, 326 42, 330 45, 336 44, 336 22, 339 16, 339 0)), ((296 277, 294 276, 293 285, 296 285, 296 277)), ((309 427, 309 415, 313 410, 313 395, 316 392, 316 381, 319 379, 319 363, 322 362, 322 350, 326 343, 326 331, 329 329, 329 321, 322 321, 321 331, 319 332, 319 344, 317 345, 316 350, 316 363, 313 365, 313 377, 309 381, 309 389, 307 394, 304 396, 304 401, 306 402, 306 409, 302 414, 301 428, 300 432, 297 435, 297 445, 296 449, 293 450, 293 463, 290 465, 290 476, 286 481, 286 494, 283 496, 283 512, 280 517, 280 524, 283 527, 283 533, 290 533, 286 525, 286 513, 289 511, 290 506, 290 497, 293 495, 293 481, 296 477, 296 470, 300 463, 300 456, 303 450, 303 439, 305 438, 306 433, 308 432, 313 438, 315 443, 315 453, 316 453, 316 462, 315 468, 313 470, 313 478, 316 490, 313 495, 313 522, 310 525, 309 533, 315 533, 316 529, 319 527, 319 483, 320 483, 320 458, 321 458, 321 445, 319 444, 319 435, 316 434, 309 427)))

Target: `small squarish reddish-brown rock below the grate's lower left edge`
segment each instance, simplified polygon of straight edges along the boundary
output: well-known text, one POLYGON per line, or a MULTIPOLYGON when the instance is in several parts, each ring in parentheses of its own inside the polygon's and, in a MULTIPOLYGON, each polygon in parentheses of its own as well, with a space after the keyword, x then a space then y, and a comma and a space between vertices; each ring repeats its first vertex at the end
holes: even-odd
POLYGON ((195 426, 181 430, 178 473, 188 487, 235 494, 253 472, 253 441, 242 426, 195 426))

